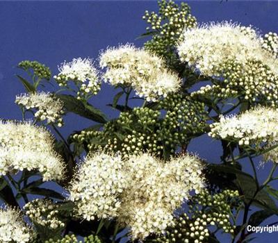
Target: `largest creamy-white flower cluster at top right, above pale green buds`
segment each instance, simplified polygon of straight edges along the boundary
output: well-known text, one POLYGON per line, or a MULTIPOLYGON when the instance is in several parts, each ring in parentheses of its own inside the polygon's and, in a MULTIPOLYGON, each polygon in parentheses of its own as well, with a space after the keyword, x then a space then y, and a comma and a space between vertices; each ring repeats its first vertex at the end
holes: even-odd
POLYGON ((186 28, 177 49, 181 61, 207 76, 217 76, 219 65, 226 60, 241 64, 260 60, 278 74, 278 60, 263 49, 261 37, 251 27, 222 22, 186 28))

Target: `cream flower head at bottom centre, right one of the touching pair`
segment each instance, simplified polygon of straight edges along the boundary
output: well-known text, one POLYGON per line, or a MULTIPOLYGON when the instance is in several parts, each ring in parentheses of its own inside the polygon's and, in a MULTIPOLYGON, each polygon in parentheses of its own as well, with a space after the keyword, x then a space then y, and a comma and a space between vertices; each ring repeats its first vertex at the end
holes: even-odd
POLYGON ((147 153, 126 160, 129 187, 122 195, 119 221, 131 228, 133 238, 163 233, 174 225, 173 212, 188 199, 189 192, 202 190, 201 162, 190 155, 163 162, 147 153))

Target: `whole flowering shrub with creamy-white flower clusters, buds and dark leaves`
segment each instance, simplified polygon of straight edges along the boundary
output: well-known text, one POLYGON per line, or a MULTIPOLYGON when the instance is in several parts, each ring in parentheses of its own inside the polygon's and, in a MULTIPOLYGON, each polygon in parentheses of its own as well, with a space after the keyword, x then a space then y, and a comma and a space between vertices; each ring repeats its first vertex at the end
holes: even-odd
POLYGON ((277 34, 158 5, 142 48, 65 61, 53 78, 19 63, 22 121, 0 121, 0 242, 243 243, 247 225, 278 215, 277 34), (40 90, 51 81, 58 90, 40 90), (120 90, 113 119, 91 104, 104 82, 120 90), (92 126, 63 137, 69 112, 92 126), (188 153, 202 135, 222 144, 219 161, 188 153), (263 183, 254 159, 272 163, 263 183))

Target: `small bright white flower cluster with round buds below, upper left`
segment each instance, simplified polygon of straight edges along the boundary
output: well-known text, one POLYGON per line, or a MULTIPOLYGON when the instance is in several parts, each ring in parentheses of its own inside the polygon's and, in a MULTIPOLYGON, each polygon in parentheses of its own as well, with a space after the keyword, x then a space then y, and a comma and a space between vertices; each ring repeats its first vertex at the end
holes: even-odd
POLYGON ((96 95, 100 90, 101 83, 98 79, 98 71, 90 58, 74 58, 72 62, 64 62, 58 67, 60 73, 54 79, 60 86, 68 86, 69 81, 79 85, 78 94, 96 95), (81 82, 81 83, 79 83, 81 82))

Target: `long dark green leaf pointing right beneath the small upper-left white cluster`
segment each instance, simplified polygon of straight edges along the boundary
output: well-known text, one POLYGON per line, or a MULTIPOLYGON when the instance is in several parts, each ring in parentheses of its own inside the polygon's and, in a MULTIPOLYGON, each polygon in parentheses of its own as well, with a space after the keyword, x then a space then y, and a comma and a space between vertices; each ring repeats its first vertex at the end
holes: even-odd
POLYGON ((99 109, 95 108, 89 103, 83 103, 82 101, 80 101, 76 97, 73 97, 72 95, 56 94, 56 97, 63 101, 67 112, 73 112, 77 115, 80 115, 81 117, 85 117, 87 119, 102 124, 108 121, 108 119, 99 109))

